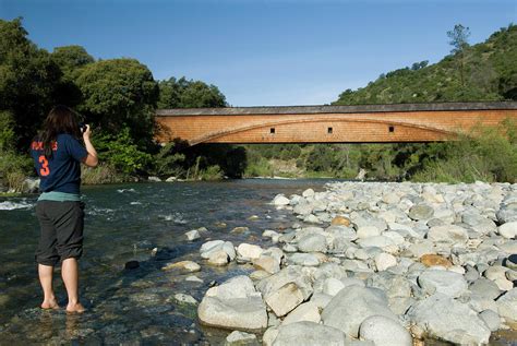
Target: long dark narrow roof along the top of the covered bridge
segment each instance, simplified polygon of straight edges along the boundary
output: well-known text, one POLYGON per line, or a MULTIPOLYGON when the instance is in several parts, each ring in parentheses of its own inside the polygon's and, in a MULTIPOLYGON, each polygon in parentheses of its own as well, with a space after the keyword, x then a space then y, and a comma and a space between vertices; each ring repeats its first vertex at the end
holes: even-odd
POLYGON ((441 111, 441 110, 504 110, 517 109, 517 102, 495 103, 433 103, 392 104, 357 106, 273 106, 226 108, 175 108, 158 109, 158 117, 175 116, 245 116, 245 115, 309 115, 309 114, 358 114, 392 111, 441 111))

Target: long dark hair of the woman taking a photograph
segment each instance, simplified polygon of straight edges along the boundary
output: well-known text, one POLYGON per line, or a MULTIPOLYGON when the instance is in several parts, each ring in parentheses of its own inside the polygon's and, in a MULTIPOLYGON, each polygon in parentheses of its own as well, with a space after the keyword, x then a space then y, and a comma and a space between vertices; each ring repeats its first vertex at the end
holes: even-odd
POLYGON ((63 105, 53 107, 45 119, 39 140, 44 143, 45 157, 52 157, 52 142, 60 133, 68 133, 75 138, 81 138, 77 115, 75 111, 63 105))

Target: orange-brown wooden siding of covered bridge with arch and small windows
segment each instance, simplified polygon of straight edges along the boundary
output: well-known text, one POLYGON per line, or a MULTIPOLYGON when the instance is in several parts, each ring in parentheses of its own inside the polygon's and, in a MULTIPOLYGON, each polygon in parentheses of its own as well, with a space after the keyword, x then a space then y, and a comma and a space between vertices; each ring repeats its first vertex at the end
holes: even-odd
POLYGON ((197 143, 425 142, 477 123, 517 120, 517 110, 447 110, 318 115, 242 115, 157 117, 169 129, 159 139, 197 143), (389 132, 388 127, 395 131, 389 132), (327 129, 332 127, 333 133, 327 129), (275 134, 269 129, 275 128, 275 134))

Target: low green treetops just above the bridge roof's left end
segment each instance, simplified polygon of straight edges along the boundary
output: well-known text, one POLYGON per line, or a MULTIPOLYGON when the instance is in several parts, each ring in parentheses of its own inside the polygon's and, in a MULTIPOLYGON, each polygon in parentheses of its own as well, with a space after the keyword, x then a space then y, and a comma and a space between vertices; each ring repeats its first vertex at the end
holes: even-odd
POLYGON ((215 85, 184 76, 159 82, 158 108, 226 107, 226 97, 215 85))

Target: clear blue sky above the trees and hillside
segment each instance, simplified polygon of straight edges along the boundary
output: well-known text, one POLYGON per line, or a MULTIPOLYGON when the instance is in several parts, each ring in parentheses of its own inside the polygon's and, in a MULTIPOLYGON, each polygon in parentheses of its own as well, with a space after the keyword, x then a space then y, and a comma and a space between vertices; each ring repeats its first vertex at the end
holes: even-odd
POLYGON ((156 80, 214 84, 231 106, 322 105, 517 23, 517 0, 0 0, 38 47, 135 58, 156 80))

